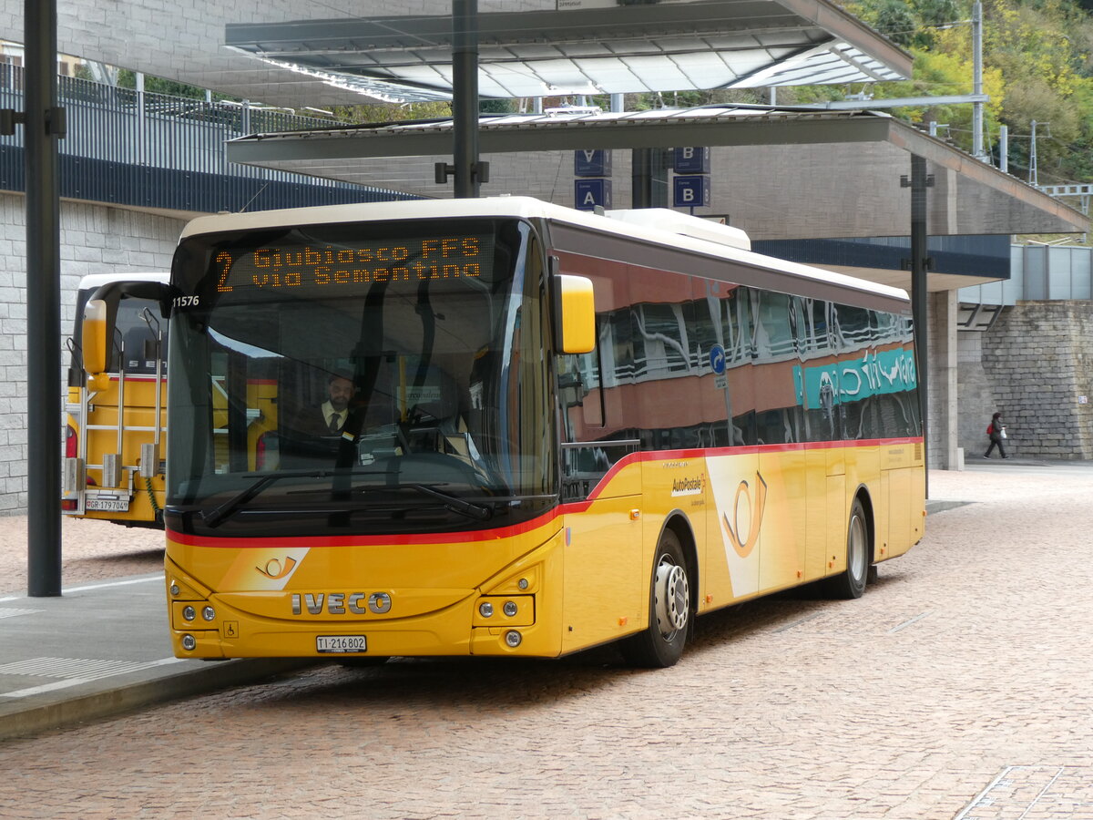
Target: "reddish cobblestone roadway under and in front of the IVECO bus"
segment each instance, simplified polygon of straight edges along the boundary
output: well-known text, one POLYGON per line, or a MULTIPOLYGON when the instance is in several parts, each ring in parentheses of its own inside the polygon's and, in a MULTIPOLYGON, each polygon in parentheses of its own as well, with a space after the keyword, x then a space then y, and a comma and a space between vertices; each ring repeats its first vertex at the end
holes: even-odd
POLYGON ((1093 466, 930 496, 863 598, 708 616, 672 669, 314 667, 0 743, 0 817, 1093 820, 1093 466))

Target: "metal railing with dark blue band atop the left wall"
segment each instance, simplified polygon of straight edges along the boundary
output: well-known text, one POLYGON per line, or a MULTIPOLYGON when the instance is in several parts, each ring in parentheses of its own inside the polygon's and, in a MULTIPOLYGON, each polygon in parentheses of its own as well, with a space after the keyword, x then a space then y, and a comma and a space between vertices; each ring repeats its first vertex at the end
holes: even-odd
MULTIPOLYGON (((208 213, 413 198, 227 161, 227 140, 331 120, 72 77, 58 77, 58 105, 68 121, 59 143, 62 197, 208 213)), ((0 65, 0 108, 23 107, 23 69, 0 65)), ((22 129, 0 137, 0 189, 25 190, 23 164, 22 129)))

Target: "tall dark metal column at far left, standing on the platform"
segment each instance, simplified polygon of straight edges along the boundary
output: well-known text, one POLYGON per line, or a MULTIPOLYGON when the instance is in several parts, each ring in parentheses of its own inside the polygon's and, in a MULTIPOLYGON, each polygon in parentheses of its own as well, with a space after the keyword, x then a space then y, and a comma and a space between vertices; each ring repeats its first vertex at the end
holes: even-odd
POLYGON ((25 0, 27 594, 61 594, 60 206, 57 0, 25 0))

